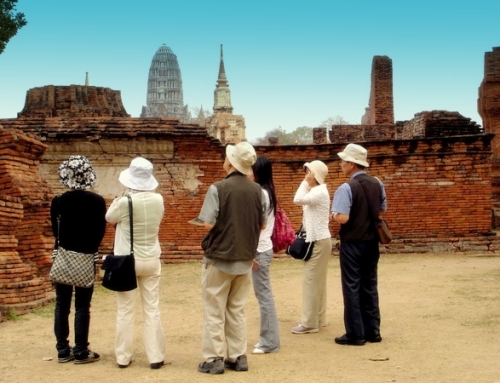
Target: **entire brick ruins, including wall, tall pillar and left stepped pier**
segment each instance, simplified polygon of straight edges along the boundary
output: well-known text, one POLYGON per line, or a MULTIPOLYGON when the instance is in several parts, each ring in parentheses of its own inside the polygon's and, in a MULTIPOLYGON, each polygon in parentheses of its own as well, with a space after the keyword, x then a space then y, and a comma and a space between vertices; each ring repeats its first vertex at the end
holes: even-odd
MULTIPOLYGON (((370 174, 387 189, 386 217, 395 240, 382 251, 497 251, 492 209, 500 203, 499 68, 500 48, 494 48, 486 54, 479 91, 484 131, 447 111, 424 111, 394 123, 392 62, 377 56, 369 123, 315 129, 311 145, 257 146, 274 163, 278 198, 294 226, 300 225, 301 208, 292 200, 304 162, 317 158, 328 165, 333 195, 345 181, 337 152, 358 142, 368 149, 370 174)), ((108 204, 121 191, 118 174, 131 159, 150 159, 165 200, 162 260, 201 258, 205 232, 187 221, 198 214, 207 188, 224 177, 224 146, 205 128, 176 119, 130 118, 120 93, 108 88, 49 86, 28 91, 18 118, 0 120, 0 142, 0 311, 29 309, 52 297, 49 205, 64 191, 57 166, 72 154, 90 158, 95 191, 108 204)), ((330 226, 334 236, 336 225, 330 226)), ((108 227, 101 253, 110 250, 113 236, 108 227)))

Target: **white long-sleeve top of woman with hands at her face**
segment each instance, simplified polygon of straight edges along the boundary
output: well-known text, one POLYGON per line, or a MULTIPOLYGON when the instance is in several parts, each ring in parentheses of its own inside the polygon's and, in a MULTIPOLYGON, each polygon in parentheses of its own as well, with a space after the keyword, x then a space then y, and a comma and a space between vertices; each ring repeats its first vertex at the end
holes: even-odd
POLYGON ((302 206, 302 223, 306 231, 306 242, 331 238, 328 223, 330 219, 330 194, 326 184, 310 187, 302 181, 293 202, 302 206))

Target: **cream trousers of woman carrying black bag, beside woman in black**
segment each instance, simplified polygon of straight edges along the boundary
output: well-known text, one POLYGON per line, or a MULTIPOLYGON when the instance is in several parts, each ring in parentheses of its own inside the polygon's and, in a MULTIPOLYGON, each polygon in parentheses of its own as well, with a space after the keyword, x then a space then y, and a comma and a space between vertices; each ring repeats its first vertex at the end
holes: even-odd
POLYGON ((115 354, 118 364, 127 365, 134 353, 134 314, 137 293, 140 293, 144 319, 143 342, 149 363, 165 360, 165 335, 158 308, 161 261, 135 259, 138 288, 116 294, 117 317, 115 354))

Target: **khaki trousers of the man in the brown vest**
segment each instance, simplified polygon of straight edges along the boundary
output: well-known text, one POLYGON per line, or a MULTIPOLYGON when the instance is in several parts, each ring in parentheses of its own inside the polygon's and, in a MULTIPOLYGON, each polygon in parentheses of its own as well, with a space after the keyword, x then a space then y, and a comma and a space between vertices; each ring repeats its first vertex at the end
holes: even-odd
POLYGON ((236 360, 247 351, 245 305, 250 291, 250 273, 236 275, 203 264, 201 289, 203 300, 202 355, 236 360))

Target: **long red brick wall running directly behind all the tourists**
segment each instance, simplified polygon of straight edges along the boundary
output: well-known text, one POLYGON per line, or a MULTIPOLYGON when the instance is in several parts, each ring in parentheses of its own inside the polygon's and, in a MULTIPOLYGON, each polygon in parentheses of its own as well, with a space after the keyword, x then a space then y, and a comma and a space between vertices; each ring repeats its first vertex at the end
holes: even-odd
MULTIPOLYGON (((198 214, 208 186, 224 177, 223 147, 205 129, 179 125, 177 120, 131 118, 18 119, 12 120, 11 125, 24 131, 44 132, 40 138, 49 147, 38 172, 52 187, 53 194, 64 191, 56 168, 71 154, 89 156, 98 177, 95 191, 108 204, 122 190, 118 175, 130 160, 137 155, 150 159, 166 207, 160 234, 164 260, 201 256, 200 243, 205 233, 187 221, 198 214)), ((386 184, 387 218, 396 238, 491 235, 492 137, 480 134, 361 142, 369 150, 370 174, 386 184)), ((327 184, 333 196, 345 181, 336 154, 344 146, 345 143, 256 148, 275 163, 278 195, 296 226, 300 224, 301 209, 292 201, 303 178, 303 163, 317 158, 329 166, 327 184)), ((331 229, 332 234, 338 230, 333 223, 331 229)), ((102 251, 111 248, 113 234, 109 227, 102 251)))

